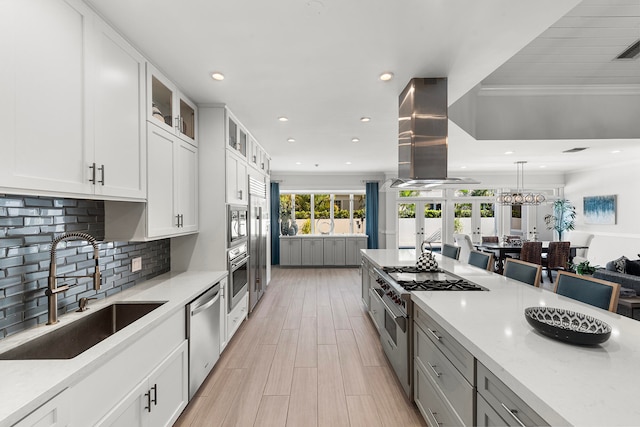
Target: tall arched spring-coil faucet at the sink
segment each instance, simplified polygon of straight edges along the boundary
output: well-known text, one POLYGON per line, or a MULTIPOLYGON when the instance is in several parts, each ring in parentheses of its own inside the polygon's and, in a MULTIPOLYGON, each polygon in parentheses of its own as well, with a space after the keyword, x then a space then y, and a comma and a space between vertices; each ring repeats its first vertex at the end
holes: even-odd
POLYGON ((71 232, 64 233, 56 237, 51 242, 51 261, 49 263, 49 288, 44 292, 48 297, 49 306, 49 319, 47 325, 53 325, 58 323, 58 294, 69 289, 68 285, 57 286, 57 279, 74 279, 79 277, 93 277, 93 289, 96 291, 100 289, 100 266, 98 265, 99 248, 96 239, 87 233, 71 232), (56 248, 58 243, 63 240, 86 240, 93 245, 93 259, 96 262, 95 271, 91 275, 85 276, 56 276, 56 248))

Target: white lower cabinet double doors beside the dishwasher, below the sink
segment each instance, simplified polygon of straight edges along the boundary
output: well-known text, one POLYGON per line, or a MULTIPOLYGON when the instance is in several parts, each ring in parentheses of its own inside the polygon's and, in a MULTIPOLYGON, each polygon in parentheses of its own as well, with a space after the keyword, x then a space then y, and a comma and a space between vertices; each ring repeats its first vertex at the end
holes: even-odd
POLYGON ((185 340, 142 380, 99 426, 170 426, 188 403, 188 354, 185 340))

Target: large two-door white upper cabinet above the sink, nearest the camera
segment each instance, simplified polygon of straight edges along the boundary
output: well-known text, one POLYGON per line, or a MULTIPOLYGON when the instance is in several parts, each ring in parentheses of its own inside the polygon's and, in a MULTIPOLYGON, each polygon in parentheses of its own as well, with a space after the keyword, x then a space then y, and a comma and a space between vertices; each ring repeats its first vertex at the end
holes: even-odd
POLYGON ((0 51, 0 188, 143 200, 142 57, 79 0, 0 2, 0 51))

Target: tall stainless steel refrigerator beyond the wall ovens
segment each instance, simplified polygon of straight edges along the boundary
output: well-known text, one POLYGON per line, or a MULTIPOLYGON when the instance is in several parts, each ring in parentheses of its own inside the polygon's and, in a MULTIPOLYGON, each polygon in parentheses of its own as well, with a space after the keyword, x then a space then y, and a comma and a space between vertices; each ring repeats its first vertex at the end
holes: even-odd
POLYGON ((267 186, 249 177, 249 312, 267 287, 267 236, 269 207, 267 186))

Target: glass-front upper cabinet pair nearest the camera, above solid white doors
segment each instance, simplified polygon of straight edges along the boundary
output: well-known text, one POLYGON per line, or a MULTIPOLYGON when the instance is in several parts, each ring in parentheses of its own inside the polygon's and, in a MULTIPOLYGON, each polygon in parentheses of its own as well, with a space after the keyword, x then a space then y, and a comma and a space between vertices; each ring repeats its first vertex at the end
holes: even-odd
POLYGON ((195 104, 151 64, 147 64, 147 120, 198 145, 195 104))

